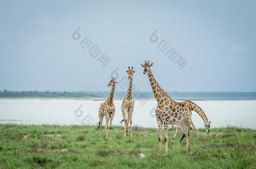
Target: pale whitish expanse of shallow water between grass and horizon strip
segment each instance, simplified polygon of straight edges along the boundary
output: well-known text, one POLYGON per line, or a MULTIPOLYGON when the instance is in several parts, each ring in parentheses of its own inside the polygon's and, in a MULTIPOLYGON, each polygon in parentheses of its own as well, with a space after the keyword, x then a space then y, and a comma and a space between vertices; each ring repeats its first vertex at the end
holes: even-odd
MULTIPOLYGON (((74 99, 0 99, 0 124, 95 125, 99 121, 99 105, 104 101, 74 99)), ((256 129, 256 101, 193 101, 212 121, 211 127, 236 126, 256 129)), ((122 100, 114 100, 113 125, 120 126, 122 100)), ((133 126, 157 128, 154 115, 157 101, 136 100, 133 126), (146 102, 145 102, 146 101, 146 102), (143 104, 143 105, 142 105, 143 104)), ((204 128, 200 116, 193 112, 196 128, 204 128)), ((105 122, 103 122, 105 124, 105 122)))

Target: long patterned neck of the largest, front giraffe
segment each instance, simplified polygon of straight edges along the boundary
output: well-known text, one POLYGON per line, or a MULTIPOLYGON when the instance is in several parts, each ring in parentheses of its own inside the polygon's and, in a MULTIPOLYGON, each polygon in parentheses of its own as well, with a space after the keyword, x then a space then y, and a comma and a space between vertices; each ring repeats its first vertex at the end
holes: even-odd
POLYGON ((172 102, 172 98, 168 95, 168 93, 166 93, 160 86, 159 84, 157 83, 156 79, 154 78, 153 74, 152 74, 152 71, 149 69, 149 72, 148 72, 148 77, 149 77, 149 81, 150 81, 150 85, 152 87, 152 90, 153 90, 153 93, 154 93, 154 96, 155 98, 157 99, 157 102, 158 104, 160 105, 159 103, 159 95, 164 98, 164 97, 168 97, 172 102), (159 90, 159 92, 158 92, 159 90))

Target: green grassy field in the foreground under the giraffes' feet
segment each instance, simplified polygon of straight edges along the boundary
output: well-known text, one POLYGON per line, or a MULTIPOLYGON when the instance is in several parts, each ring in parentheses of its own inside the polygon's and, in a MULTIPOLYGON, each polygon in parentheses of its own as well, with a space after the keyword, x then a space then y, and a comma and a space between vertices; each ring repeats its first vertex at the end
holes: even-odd
MULTIPOLYGON (((112 140, 100 139, 95 126, 0 125, 0 168, 256 168, 256 131, 252 129, 191 130, 193 155, 185 155, 185 139, 171 136, 157 153, 158 131, 112 127, 112 140), (144 157, 143 157, 144 156, 144 157)), ((105 138, 105 131, 104 138, 105 138)))

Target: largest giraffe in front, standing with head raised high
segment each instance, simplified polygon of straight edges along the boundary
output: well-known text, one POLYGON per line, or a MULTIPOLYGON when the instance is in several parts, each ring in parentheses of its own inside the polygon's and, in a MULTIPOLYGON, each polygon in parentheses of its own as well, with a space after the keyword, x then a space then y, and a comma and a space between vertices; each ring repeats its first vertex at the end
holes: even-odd
MULTIPOLYGON (((168 93, 165 92, 159 86, 159 84, 155 80, 150 70, 150 67, 152 67, 153 64, 154 63, 150 64, 149 61, 148 62, 145 61, 144 65, 143 64, 140 64, 140 65, 144 67, 143 73, 148 74, 150 85, 152 87, 154 96, 157 99, 157 103, 158 103, 157 109, 155 111, 155 114, 157 116, 158 130, 159 130, 158 153, 160 153, 160 150, 161 150, 162 126, 164 125, 164 130, 165 130, 165 154, 167 154, 169 124, 179 124, 179 126, 183 130, 183 133, 186 137, 186 155, 188 154, 188 151, 190 151, 189 153, 192 154, 190 134, 189 134, 189 126, 191 124, 191 113, 188 106, 185 105, 185 103, 187 104, 187 102, 178 103, 172 100, 172 98, 168 95, 168 93)), ((194 105, 191 104, 191 106, 194 106, 194 105)), ((195 106, 194 109, 197 109, 197 107, 195 106)), ((209 125, 209 123, 207 125, 209 125)))

